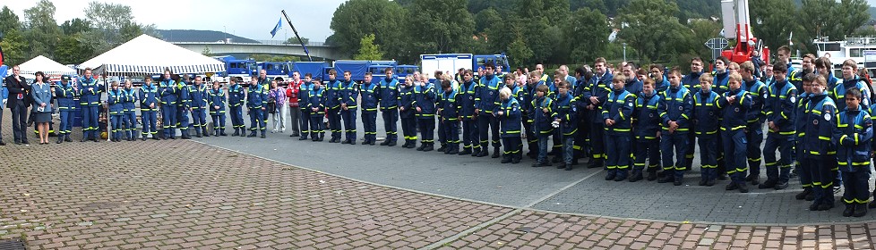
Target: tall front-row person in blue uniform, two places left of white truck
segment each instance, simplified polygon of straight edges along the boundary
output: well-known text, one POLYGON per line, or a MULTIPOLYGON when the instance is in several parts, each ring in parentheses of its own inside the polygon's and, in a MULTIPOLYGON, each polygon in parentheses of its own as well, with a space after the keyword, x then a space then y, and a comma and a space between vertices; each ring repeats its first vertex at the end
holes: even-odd
POLYGON ((383 118, 383 130, 386 139, 381 146, 396 146, 399 141, 399 80, 392 76, 392 68, 384 71, 386 77, 380 81, 380 112, 383 118))

